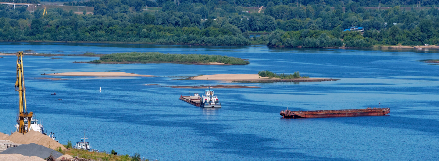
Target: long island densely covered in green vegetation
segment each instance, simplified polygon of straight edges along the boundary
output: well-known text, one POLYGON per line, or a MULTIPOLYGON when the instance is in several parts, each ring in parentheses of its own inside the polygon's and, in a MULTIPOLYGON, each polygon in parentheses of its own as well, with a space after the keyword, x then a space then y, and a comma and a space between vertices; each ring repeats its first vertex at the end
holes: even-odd
POLYGON ((200 65, 248 65, 250 62, 241 58, 222 55, 202 54, 164 54, 159 52, 126 52, 102 55, 99 60, 90 63, 182 63, 200 65))

